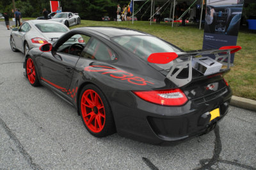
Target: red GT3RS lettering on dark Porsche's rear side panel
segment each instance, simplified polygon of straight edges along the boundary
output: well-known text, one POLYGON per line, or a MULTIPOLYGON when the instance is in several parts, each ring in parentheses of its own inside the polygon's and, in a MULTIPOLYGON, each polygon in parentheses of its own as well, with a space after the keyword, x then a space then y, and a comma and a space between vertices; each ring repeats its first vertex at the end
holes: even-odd
POLYGON ((122 71, 120 69, 115 69, 113 67, 108 66, 88 66, 84 68, 84 71, 90 72, 102 72, 101 74, 109 74, 109 76, 113 78, 117 78, 120 80, 127 80, 129 83, 135 85, 148 85, 150 83, 154 85, 154 83, 150 81, 145 81, 144 78, 134 76, 132 73, 127 73, 126 71, 122 71))

